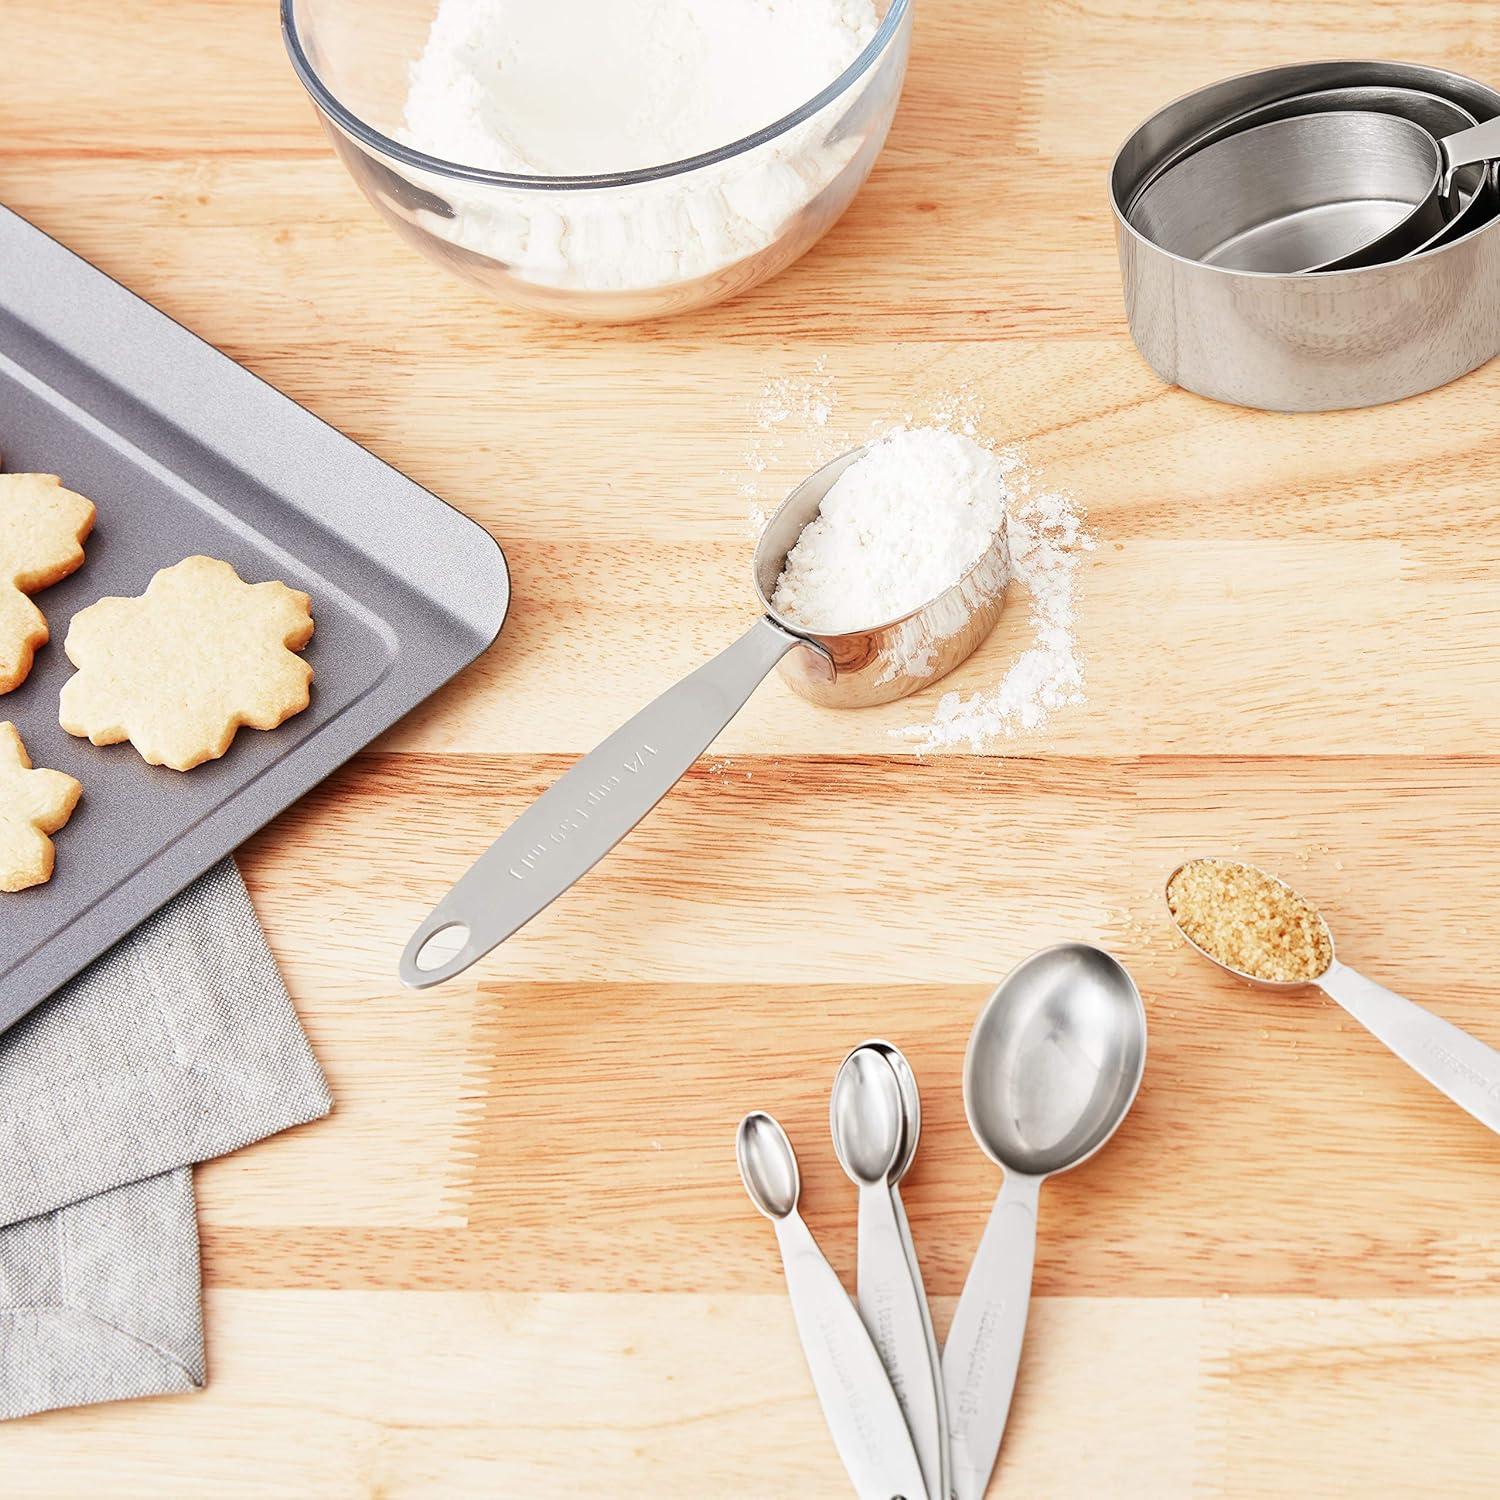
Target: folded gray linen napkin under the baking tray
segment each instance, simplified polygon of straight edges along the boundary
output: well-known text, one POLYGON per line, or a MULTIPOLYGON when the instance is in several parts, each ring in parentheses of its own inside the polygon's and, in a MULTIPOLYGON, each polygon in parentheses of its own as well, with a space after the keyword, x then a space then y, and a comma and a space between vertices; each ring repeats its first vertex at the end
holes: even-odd
POLYGON ((332 1102, 232 860, 0 1035, 0 1419, 201 1386, 190 1166, 332 1102))

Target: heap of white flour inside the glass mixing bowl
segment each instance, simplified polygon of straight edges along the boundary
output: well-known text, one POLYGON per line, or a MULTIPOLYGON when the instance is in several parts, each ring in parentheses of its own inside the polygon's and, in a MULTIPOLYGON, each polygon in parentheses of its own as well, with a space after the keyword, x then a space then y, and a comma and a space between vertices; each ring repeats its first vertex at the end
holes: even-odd
MULTIPOLYGON (((660 166, 792 112, 878 24, 873 0, 441 0, 400 138, 525 176, 660 166)), ((538 284, 664 286, 770 246, 856 148, 858 132, 831 138, 814 118, 744 158, 634 188, 446 184, 456 216, 423 222, 538 284)))

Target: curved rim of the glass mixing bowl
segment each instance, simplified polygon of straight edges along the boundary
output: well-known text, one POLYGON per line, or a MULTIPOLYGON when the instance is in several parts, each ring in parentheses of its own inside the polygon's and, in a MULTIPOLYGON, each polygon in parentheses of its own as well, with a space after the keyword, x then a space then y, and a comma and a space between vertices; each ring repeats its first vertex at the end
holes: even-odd
POLYGON ((700 152, 696 156, 684 156, 680 160, 663 162, 657 166, 638 166, 622 172, 596 172, 580 177, 500 172, 484 166, 466 166, 462 162, 450 162, 441 156, 429 156, 426 152, 418 152, 416 147, 392 140, 388 135, 376 130, 372 124, 344 105, 322 81, 316 68, 312 64, 312 58, 303 46, 302 34, 297 28, 296 9, 297 0, 280 0, 282 40, 286 45, 286 54, 291 58, 292 69, 302 81, 303 88, 308 90, 314 104, 322 111, 322 114, 326 114, 336 126, 339 126, 340 130, 352 136, 356 141, 374 152, 378 152, 381 156, 393 158, 398 162, 404 162, 406 166, 416 166, 420 171, 432 172, 438 177, 452 177, 471 183, 490 183, 496 188, 572 192, 592 188, 633 188, 640 183, 663 182, 670 177, 680 177, 686 172, 698 171, 704 166, 717 166, 722 162, 732 160, 736 156, 742 156, 746 152, 754 150, 758 146, 765 146, 768 141, 774 141, 778 135, 784 135, 788 130, 792 130, 806 120, 810 120, 820 110, 825 110, 874 66, 890 46, 891 40, 900 32, 906 18, 910 15, 912 0, 891 0, 891 6, 880 18, 880 24, 876 27, 874 36, 870 38, 860 56, 837 78, 813 94, 813 98, 806 104, 792 110, 790 114, 784 114, 782 118, 772 120, 770 124, 762 126, 752 135, 744 135, 738 141, 730 141, 728 146, 717 146, 711 152, 700 152))

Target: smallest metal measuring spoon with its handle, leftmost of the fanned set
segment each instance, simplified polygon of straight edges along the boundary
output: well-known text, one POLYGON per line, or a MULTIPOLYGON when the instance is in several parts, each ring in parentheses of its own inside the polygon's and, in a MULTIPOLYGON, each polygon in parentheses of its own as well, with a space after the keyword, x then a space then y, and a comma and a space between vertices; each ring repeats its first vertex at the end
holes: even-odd
POLYGON ((735 1160, 750 1202, 776 1226, 802 1353, 855 1492, 860 1500, 921 1500, 921 1464, 880 1354, 796 1212, 801 1178, 786 1131, 759 1110, 747 1114, 735 1160))

